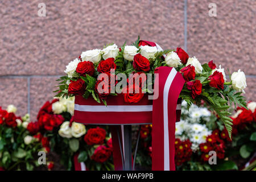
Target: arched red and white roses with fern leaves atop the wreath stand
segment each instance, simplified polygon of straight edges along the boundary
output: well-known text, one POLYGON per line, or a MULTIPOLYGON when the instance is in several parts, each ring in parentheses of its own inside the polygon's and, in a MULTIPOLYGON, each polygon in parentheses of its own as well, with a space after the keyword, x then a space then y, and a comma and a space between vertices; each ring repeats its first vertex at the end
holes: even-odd
POLYGON ((57 80, 60 84, 59 89, 55 91, 56 96, 92 96, 97 102, 107 105, 109 95, 123 94, 125 102, 139 102, 144 94, 152 94, 153 90, 147 89, 145 85, 154 84, 154 80, 149 84, 141 80, 139 84, 130 85, 130 74, 134 74, 135 77, 131 79, 136 80, 141 74, 154 75, 155 69, 161 66, 174 67, 183 74, 186 83, 180 97, 187 102, 188 107, 193 103, 199 106, 201 100, 204 100, 216 111, 231 137, 232 119, 228 117, 231 114, 230 107, 238 105, 246 108, 245 99, 241 96, 243 89, 246 88, 245 73, 238 70, 232 75, 229 74, 228 81, 224 68, 221 68, 221 65, 217 68, 213 61, 201 65, 196 57, 189 57, 181 48, 177 48, 176 51, 159 50, 156 46, 152 47, 147 42, 140 41, 139 38, 131 46, 125 43, 118 48, 116 44, 109 44, 103 49, 82 52, 67 65, 64 71, 67 76, 57 80), (107 78, 102 78, 101 74, 107 75, 107 78), (118 74, 129 77, 129 84, 112 89, 112 86, 117 85, 118 74), (138 89, 139 92, 127 93, 127 89, 138 89))

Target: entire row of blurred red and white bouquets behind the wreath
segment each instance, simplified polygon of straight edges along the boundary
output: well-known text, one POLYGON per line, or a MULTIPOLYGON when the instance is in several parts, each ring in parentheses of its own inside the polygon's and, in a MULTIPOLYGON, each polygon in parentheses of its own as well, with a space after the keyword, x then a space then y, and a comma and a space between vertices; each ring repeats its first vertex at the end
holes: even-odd
MULTIPOLYGON (((85 162, 87 170, 113 169, 108 127, 74 122, 73 112, 69 113, 67 109, 73 107, 73 101, 73 98, 47 101, 39 111, 37 122, 30 122, 28 115, 16 117, 14 106, 1 109, 0 167, 5 170, 55 169, 56 162, 38 166, 38 151, 43 150, 60 156, 59 163, 64 165, 61 169, 74 169, 75 154, 79 156, 79 162, 85 162)), ((177 170, 244 168, 255 155, 256 102, 247 104, 249 110, 238 107, 232 115, 232 141, 216 113, 204 107, 203 102, 201 104, 201 107, 192 105, 187 110, 187 103, 182 103, 181 121, 176 123, 177 170), (217 165, 208 163, 208 154, 212 150, 217 153, 217 165)), ((151 169, 151 127, 141 126, 136 169, 151 169)), ((253 168, 255 164, 250 167, 253 168)))

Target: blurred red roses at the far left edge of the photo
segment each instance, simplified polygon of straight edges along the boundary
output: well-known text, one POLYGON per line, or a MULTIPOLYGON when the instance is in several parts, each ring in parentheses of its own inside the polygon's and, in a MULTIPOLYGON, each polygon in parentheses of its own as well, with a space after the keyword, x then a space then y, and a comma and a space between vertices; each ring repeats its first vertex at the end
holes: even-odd
POLYGON ((22 120, 20 117, 16 117, 14 113, 8 113, 6 110, 2 110, 2 107, 0 107, 0 125, 5 123, 9 127, 16 127, 16 119, 22 120))

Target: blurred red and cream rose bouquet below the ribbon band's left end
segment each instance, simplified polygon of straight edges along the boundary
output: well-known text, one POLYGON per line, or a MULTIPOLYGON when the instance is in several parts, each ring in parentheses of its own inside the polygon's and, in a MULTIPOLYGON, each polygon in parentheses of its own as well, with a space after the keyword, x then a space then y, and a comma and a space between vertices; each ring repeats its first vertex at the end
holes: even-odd
POLYGON ((75 98, 59 98, 47 101, 38 113, 38 121, 27 126, 31 134, 40 135, 48 152, 60 156, 65 169, 74 169, 73 156, 85 162, 89 170, 113 169, 112 140, 107 127, 92 127, 73 120, 75 98))

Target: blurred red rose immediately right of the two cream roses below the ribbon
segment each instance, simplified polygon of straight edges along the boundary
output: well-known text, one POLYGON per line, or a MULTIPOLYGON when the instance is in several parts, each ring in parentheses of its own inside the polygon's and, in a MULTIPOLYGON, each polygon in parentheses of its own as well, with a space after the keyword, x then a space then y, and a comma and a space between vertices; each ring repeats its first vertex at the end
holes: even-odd
POLYGON ((106 131, 100 127, 89 129, 84 136, 84 140, 89 146, 93 144, 102 144, 106 138, 106 131))

